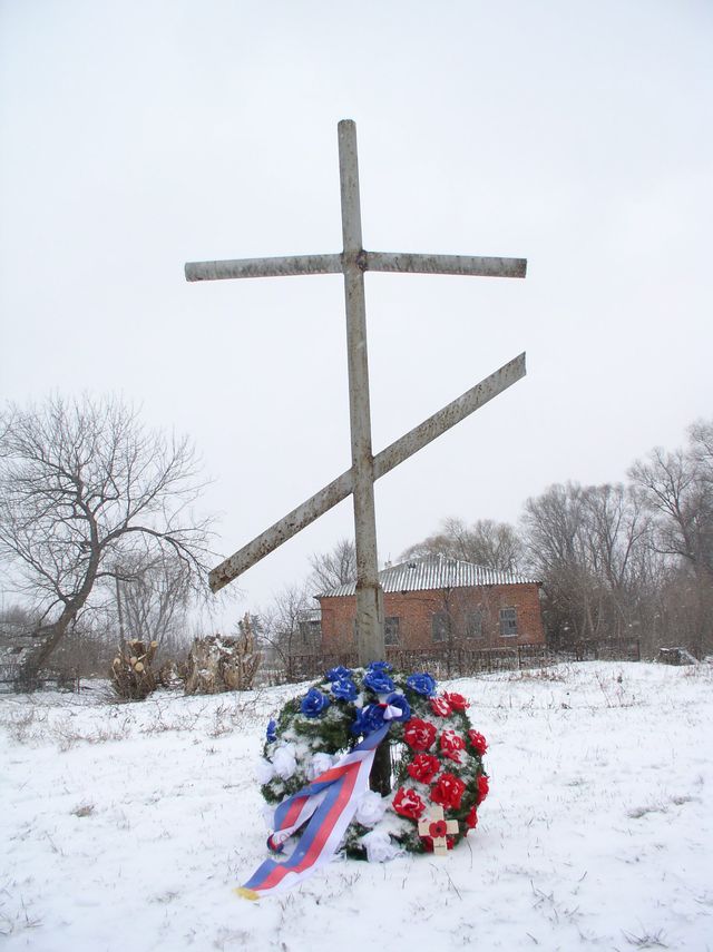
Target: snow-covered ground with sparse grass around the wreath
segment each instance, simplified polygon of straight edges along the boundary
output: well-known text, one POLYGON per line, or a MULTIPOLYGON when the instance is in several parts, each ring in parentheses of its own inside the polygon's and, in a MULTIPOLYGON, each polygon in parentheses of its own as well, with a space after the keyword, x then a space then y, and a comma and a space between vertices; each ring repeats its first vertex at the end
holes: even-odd
POLYGON ((233 887, 265 857, 256 762, 299 686, 0 697, 4 949, 713 950, 711 667, 441 686, 490 744, 477 831, 442 860, 338 860, 260 902, 233 887))

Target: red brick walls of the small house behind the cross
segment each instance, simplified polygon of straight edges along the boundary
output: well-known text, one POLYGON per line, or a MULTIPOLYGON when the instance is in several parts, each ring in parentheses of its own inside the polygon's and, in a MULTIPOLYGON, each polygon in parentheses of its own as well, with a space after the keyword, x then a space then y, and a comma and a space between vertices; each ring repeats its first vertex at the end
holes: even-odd
MULTIPOLYGON (((506 585, 450 590, 384 592, 384 618, 399 618, 403 648, 432 648, 453 642, 473 648, 504 648, 545 642, 539 586, 506 585), (500 609, 515 608, 517 635, 500 634, 500 609), (433 616, 441 641, 433 640, 433 616), (480 618, 480 636, 475 635, 480 618), (468 634, 468 629, 470 632, 468 634)), ((353 647, 356 600, 354 596, 321 598, 322 650, 348 651, 353 647)))

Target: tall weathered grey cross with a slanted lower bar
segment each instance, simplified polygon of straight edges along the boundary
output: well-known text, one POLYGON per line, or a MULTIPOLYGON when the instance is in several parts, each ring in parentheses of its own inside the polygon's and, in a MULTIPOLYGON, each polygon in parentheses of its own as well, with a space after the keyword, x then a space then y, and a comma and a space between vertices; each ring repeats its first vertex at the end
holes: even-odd
POLYGON ((349 119, 342 120, 338 126, 338 137, 342 235, 344 239, 344 249, 341 254, 199 262, 186 264, 185 271, 187 281, 275 277, 299 274, 344 275, 351 468, 235 554, 221 562, 209 573, 208 582, 213 591, 223 588, 224 585, 233 581, 268 552, 272 552, 273 549, 276 549, 351 493, 354 501, 356 543, 358 654, 359 663, 365 665, 371 660, 384 657, 383 596, 379 585, 377 561, 374 480, 388 473, 430 443, 431 440, 434 440, 436 436, 445 433, 525 376, 525 354, 520 354, 501 366, 374 457, 371 446, 369 406, 364 272, 525 277, 527 262, 522 258, 393 254, 364 251, 361 237, 356 127, 354 122, 349 119))

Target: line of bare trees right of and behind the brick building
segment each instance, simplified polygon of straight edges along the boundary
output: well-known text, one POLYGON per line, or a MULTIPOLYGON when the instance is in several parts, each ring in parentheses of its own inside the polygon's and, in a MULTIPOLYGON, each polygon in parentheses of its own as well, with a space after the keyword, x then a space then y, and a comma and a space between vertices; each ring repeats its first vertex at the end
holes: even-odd
POLYGON ((548 638, 631 640, 652 655, 684 646, 713 652, 713 421, 686 445, 656 448, 628 482, 556 483, 530 497, 517 528, 445 520, 404 557, 446 556, 544 582, 548 638))

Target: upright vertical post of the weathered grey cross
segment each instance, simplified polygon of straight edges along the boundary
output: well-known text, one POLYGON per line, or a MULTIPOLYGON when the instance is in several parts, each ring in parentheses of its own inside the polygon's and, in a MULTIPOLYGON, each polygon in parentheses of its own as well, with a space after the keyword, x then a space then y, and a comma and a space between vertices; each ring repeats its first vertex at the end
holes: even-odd
POLYGON ((343 119, 338 127, 339 173, 342 198, 344 298, 349 354, 349 415, 354 480, 354 536, 356 546, 356 650, 359 664, 384 656, 383 595, 379 585, 377 517, 369 404, 364 249, 361 236, 356 127, 343 119))

